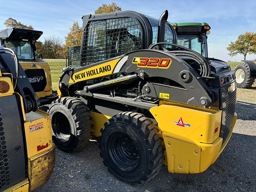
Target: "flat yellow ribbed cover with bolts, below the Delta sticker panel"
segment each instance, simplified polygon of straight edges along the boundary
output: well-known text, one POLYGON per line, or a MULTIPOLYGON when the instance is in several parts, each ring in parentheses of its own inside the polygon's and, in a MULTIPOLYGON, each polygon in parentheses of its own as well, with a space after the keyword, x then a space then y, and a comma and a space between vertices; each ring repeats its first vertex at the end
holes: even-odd
POLYGON ((172 173, 199 173, 201 148, 195 144, 164 137, 168 157, 168 171, 172 173))

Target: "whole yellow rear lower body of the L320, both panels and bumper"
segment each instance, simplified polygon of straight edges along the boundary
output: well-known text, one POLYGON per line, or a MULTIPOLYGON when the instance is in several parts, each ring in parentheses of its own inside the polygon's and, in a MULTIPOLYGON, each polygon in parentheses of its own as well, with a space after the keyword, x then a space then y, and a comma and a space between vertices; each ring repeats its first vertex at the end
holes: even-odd
POLYGON ((236 122, 235 114, 228 138, 222 144, 219 137, 222 111, 161 101, 150 112, 164 138, 164 164, 172 173, 205 171, 225 148, 236 122))

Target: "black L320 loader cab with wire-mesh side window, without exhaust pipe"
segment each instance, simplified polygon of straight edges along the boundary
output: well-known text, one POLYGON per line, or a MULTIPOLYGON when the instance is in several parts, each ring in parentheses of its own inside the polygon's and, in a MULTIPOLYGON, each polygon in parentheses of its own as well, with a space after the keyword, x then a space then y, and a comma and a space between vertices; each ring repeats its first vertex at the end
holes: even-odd
MULTIPOLYGON (((80 66, 148 49, 150 44, 157 43, 158 21, 133 11, 84 15, 80 66)), ((164 41, 177 42, 169 23, 165 25, 164 41)), ((172 46, 164 48, 171 50, 172 46)))

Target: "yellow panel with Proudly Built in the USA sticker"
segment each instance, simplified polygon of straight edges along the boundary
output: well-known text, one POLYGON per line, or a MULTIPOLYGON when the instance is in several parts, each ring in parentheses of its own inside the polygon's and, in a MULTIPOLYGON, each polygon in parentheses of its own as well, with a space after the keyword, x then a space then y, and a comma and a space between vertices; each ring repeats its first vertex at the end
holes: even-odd
POLYGON ((41 110, 27 113, 24 126, 28 157, 52 147, 51 122, 48 113, 41 110))

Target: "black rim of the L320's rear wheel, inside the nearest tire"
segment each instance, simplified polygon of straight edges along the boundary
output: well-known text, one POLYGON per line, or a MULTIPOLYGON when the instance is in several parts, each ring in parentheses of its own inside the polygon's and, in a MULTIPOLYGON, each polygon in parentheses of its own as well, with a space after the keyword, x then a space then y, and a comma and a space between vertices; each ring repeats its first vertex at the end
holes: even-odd
POLYGON ((108 152, 112 162, 121 171, 131 172, 140 163, 140 154, 136 143, 124 133, 114 133, 109 138, 108 152))

